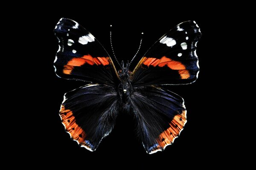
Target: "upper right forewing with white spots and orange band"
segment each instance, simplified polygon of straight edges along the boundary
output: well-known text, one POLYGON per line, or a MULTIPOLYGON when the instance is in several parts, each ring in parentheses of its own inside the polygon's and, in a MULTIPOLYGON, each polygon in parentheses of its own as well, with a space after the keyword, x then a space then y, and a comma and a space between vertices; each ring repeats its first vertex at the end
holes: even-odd
POLYGON ((195 21, 180 23, 145 53, 131 74, 131 82, 143 85, 189 84, 198 77, 196 44, 201 31, 195 21))

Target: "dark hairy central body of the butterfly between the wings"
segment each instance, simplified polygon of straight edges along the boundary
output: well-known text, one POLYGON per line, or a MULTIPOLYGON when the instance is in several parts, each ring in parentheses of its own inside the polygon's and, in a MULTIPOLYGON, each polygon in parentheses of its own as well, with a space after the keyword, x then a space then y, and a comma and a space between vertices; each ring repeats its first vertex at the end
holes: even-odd
POLYGON ((122 99, 122 103, 126 104, 132 92, 132 86, 130 82, 131 71, 129 70, 129 62, 127 62, 126 66, 124 66, 124 62, 122 61, 122 68, 118 71, 120 77, 120 84, 118 86, 118 92, 122 99))

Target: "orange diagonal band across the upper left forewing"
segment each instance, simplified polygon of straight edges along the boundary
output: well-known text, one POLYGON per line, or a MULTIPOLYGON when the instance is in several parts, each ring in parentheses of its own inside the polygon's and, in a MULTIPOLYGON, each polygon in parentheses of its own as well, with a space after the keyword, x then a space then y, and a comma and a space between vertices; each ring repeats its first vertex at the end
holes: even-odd
POLYGON ((83 57, 74 57, 69 62, 67 62, 67 65, 64 65, 63 73, 64 74, 71 74, 74 67, 79 67, 84 64, 89 65, 109 65, 109 57, 95 57, 93 58, 90 54, 84 55, 83 57))

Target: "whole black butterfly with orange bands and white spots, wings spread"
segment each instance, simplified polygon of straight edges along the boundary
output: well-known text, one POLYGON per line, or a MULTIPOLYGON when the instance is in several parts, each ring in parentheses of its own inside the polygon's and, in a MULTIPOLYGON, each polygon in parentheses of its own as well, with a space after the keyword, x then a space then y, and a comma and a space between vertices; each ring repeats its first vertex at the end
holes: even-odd
POLYGON ((133 71, 123 61, 117 71, 105 48, 76 21, 61 18, 54 33, 59 40, 56 75, 86 82, 64 95, 59 111, 73 140, 94 151, 111 133, 118 114, 129 113, 147 153, 174 142, 186 124, 186 108, 183 98, 163 85, 190 84, 198 78, 201 31, 195 21, 163 35, 133 71))

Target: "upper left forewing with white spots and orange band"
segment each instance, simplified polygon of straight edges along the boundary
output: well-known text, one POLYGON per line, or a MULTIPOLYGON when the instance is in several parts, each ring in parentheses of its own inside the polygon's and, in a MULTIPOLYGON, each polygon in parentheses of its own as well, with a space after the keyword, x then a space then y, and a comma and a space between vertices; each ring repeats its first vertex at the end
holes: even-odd
POLYGON ((61 18, 54 33, 59 40, 54 61, 58 77, 108 85, 119 81, 108 53, 79 23, 61 18))

